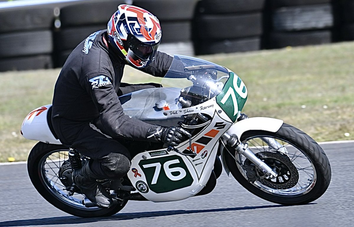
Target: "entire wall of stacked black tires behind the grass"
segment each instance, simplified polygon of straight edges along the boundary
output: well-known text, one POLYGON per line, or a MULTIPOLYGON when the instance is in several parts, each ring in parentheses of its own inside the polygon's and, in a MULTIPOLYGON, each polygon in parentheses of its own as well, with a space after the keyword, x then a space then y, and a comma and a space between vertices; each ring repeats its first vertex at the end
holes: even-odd
POLYGON ((61 67, 119 4, 159 18, 159 50, 204 55, 354 40, 354 0, 82 0, 1 8, 0 71, 61 67))

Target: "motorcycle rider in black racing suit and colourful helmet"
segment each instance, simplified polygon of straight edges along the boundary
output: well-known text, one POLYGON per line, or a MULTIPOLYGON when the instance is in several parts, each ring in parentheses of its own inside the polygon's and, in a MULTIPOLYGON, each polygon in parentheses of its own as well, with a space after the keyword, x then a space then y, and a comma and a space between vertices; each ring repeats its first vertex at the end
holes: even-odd
POLYGON ((175 146, 190 136, 179 127, 152 125, 124 115, 118 99, 119 95, 157 87, 153 83, 121 83, 125 65, 155 77, 165 76, 173 57, 157 51, 160 39, 160 23, 152 13, 119 5, 107 30, 92 33, 73 50, 55 84, 54 131, 64 145, 90 157, 72 177, 99 207, 108 208, 113 201, 96 180, 120 179, 130 170, 129 151, 116 138, 175 146))

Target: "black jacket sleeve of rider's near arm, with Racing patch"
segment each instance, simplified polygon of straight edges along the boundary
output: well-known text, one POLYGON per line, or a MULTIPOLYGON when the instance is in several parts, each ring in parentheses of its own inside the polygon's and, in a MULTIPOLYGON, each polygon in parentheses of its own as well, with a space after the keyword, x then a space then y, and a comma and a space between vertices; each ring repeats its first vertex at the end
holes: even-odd
POLYGON ((82 79, 81 85, 91 95, 105 133, 113 138, 146 138, 149 128, 153 125, 124 114, 110 75, 91 74, 82 79))

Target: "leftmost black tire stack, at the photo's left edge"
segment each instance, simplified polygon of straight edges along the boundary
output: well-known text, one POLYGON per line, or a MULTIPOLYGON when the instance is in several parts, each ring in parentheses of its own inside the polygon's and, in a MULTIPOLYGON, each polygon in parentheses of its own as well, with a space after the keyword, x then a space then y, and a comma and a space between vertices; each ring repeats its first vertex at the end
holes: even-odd
POLYGON ((0 12, 0 71, 52 68, 52 7, 0 12))

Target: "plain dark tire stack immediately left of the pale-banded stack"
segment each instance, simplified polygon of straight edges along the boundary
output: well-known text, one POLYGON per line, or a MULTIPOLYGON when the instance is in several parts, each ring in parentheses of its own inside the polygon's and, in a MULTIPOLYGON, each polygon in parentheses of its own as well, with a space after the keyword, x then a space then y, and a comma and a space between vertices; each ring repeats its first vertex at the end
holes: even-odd
POLYGON ((195 54, 261 49, 264 0, 201 0, 194 21, 195 54))

